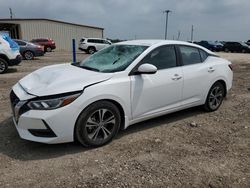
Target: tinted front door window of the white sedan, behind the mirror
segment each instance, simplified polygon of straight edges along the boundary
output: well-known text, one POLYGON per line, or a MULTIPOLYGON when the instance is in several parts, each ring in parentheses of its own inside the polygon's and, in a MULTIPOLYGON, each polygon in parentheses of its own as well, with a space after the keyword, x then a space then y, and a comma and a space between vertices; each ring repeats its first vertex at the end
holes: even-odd
POLYGON ((150 52, 143 63, 149 63, 160 69, 176 67, 176 55, 174 46, 162 46, 150 52))

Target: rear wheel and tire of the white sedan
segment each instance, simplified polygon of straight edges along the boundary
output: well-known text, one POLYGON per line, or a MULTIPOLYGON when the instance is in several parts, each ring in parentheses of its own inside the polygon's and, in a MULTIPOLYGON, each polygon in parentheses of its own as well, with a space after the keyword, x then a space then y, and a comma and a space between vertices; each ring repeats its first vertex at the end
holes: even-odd
POLYGON ((222 83, 220 82, 214 83, 214 85, 208 92, 206 103, 203 106, 204 109, 207 112, 216 111, 222 104, 222 101, 225 97, 225 92, 226 89, 222 83))

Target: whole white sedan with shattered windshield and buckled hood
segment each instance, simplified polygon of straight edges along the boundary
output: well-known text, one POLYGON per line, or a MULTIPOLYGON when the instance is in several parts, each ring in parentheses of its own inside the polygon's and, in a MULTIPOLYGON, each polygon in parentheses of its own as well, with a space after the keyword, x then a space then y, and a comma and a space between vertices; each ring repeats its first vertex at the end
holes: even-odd
POLYGON ((200 105, 215 111, 232 79, 231 63, 201 46, 137 40, 41 68, 13 86, 10 100, 20 137, 96 147, 137 122, 200 105))

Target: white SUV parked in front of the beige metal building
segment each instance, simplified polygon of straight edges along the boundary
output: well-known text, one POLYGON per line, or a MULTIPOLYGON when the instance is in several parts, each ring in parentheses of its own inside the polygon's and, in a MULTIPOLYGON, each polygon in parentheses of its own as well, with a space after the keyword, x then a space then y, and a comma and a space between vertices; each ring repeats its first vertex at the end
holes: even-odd
POLYGON ((111 45, 111 42, 101 38, 82 38, 79 42, 79 50, 85 51, 88 54, 93 54, 103 48, 111 45))

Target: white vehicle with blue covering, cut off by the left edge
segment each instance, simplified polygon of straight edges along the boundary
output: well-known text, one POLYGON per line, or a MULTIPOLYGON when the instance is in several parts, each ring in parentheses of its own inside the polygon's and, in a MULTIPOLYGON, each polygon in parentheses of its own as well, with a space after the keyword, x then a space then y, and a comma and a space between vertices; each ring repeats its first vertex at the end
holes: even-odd
POLYGON ((7 34, 0 34, 0 74, 6 72, 9 66, 21 63, 19 46, 7 34))

